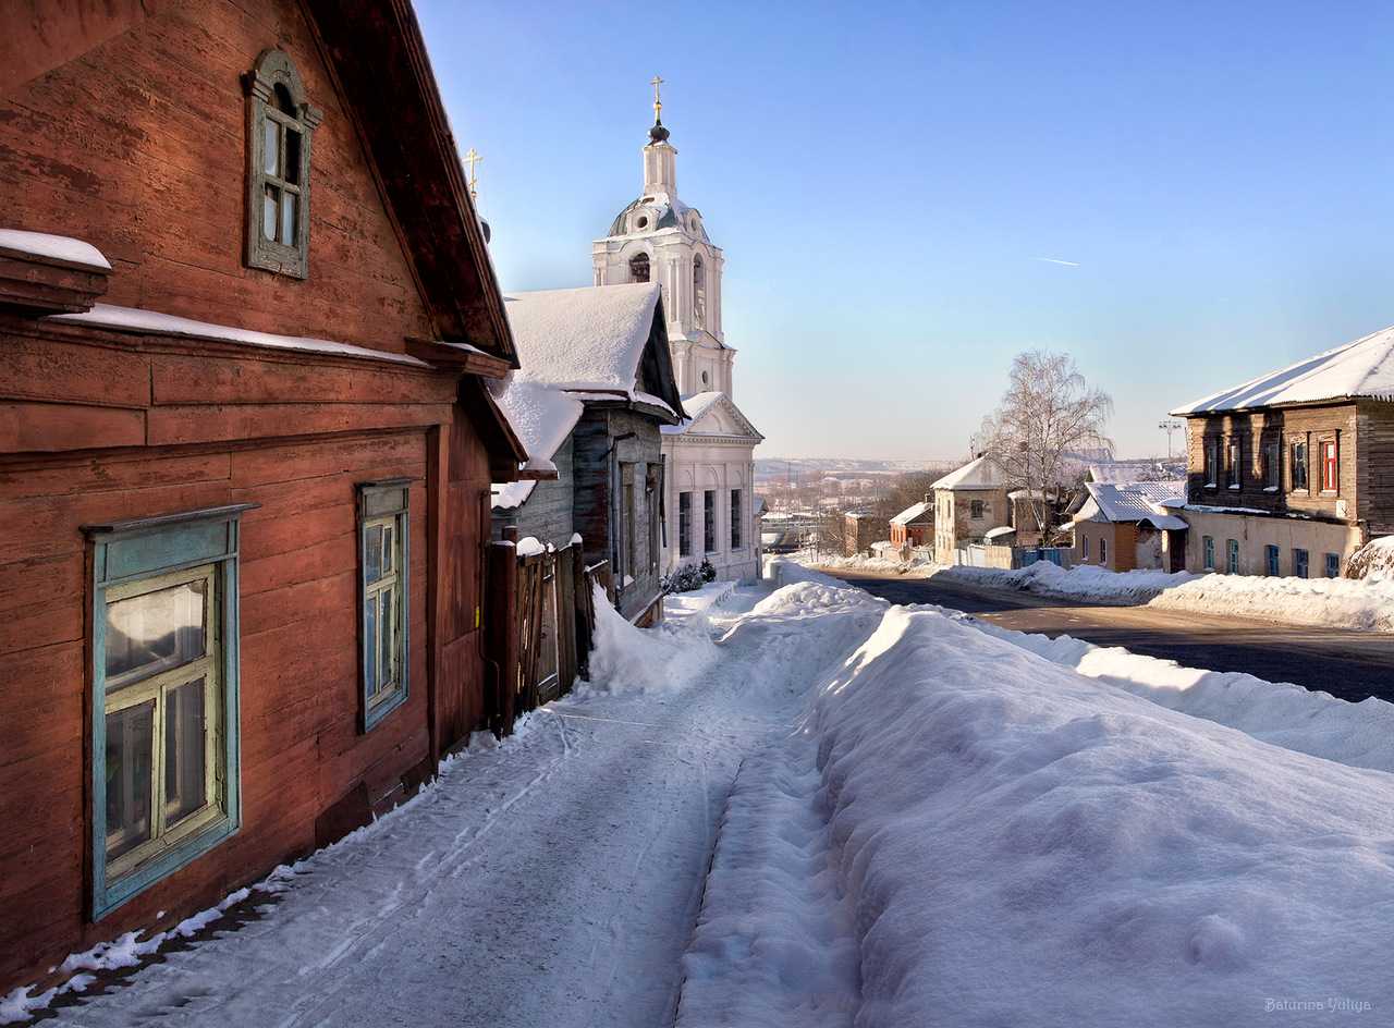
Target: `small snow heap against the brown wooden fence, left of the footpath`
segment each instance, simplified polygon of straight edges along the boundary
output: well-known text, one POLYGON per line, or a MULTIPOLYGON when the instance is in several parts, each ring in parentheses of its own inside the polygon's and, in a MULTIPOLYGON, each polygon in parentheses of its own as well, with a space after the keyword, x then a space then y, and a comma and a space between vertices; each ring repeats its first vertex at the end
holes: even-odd
POLYGON ((591 680, 579 692, 630 692, 676 688, 693 681, 717 659, 717 648, 698 625, 690 631, 659 624, 636 628, 595 588, 595 649, 591 680))

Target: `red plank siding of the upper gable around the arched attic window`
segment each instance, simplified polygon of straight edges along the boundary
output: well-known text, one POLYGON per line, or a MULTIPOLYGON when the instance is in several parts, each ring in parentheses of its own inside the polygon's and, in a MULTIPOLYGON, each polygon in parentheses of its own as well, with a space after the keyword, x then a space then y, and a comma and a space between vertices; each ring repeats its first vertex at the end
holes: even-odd
MULTIPOLYGON (((106 302, 401 351, 428 336, 350 111, 293 0, 187 0, 6 96, 0 195, 32 231, 96 245, 106 302), (243 266, 247 99, 265 47, 325 111, 312 137, 309 279, 243 266)), ((328 383, 325 387, 330 387, 328 383)))

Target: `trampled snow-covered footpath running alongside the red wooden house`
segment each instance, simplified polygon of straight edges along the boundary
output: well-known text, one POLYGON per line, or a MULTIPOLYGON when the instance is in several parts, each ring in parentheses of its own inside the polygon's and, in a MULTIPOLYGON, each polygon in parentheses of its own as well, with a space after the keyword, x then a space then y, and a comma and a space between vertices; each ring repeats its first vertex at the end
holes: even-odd
MULTIPOLYGON (((715 613, 729 623, 761 595, 715 613)), ((859 641, 803 635, 781 648, 761 623, 711 646, 687 683, 534 713, 298 865, 263 918, 61 1022, 671 1024, 742 758, 788 738, 800 676, 859 641), (753 674, 771 663, 778 674, 753 674)), ((684 656, 655 677, 689 674, 684 656)))

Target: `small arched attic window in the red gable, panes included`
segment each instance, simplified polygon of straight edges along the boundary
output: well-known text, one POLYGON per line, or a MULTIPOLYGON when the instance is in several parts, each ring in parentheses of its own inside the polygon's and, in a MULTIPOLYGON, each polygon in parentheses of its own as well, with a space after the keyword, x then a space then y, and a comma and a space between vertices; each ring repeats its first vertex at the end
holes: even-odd
POLYGON ((247 266, 309 276, 309 139, 323 113, 284 50, 262 50, 247 84, 247 266))

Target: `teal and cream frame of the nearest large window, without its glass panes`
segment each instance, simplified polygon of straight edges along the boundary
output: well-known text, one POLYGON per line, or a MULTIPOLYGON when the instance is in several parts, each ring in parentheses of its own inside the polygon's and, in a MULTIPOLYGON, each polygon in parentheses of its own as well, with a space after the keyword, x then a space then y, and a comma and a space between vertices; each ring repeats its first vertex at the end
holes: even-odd
POLYGON ((99 921, 149 886, 173 875, 241 826, 238 539, 241 514, 256 504, 233 504, 184 514, 86 525, 91 557, 91 653, 88 676, 92 749, 89 903, 99 921), (107 688, 106 609, 110 603, 205 582, 204 656, 164 667, 145 678, 107 688), (166 827, 163 795, 163 708, 169 691, 202 677, 205 723, 205 802, 166 827), (114 695, 116 703, 109 702, 114 695), (155 702, 151 731, 151 839, 107 859, 106 716, 155 702))

